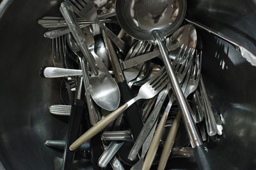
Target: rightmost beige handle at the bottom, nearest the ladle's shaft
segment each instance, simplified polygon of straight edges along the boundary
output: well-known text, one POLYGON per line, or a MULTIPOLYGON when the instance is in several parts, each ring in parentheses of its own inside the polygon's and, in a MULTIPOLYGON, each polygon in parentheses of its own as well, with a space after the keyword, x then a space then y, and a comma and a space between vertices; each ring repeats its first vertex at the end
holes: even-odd
POLYGON ((166 165, 166 162, 168 161, 170 153, 172 152, 172 147, 173 147, 173 143, 175 141, 175 136, 176 136, 178 128, 179 128, 179 123, 180 123, 180 111, 178 111, 178 113, 173 121, 172 127, 168 133, 167 138, 166 138, 163 152, 161 154, 161 158, 159 159, 160 161, 159 161, 158 168, 157 168, 158 170, 163 170, 166 165))

